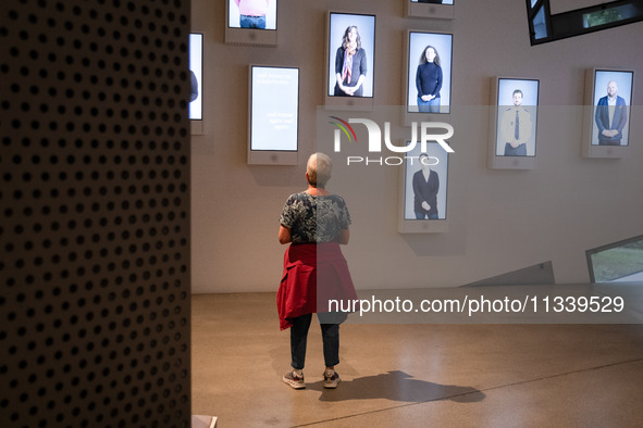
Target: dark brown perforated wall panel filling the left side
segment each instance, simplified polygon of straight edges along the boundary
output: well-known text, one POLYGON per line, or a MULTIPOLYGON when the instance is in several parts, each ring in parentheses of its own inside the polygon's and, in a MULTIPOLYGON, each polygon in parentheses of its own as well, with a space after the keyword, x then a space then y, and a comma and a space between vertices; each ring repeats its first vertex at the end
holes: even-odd
POLYGON ((189 426, 188 33, 2 1, 0 427, 189 426))

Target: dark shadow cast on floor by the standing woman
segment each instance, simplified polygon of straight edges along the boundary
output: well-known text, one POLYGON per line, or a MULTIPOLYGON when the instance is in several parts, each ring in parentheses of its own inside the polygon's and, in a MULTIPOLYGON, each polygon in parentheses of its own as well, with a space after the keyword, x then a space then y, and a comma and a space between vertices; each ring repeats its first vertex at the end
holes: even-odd
POLYGON ((342 380, 337 389, 324 389, 323 381, 306 383, 306 389, 321 391, 320 401, 386 399, 408 403, 440 400, 473 403, 484 400, 485 396, 482 391, 472 387, 418 380, 400 370, 342 380))

